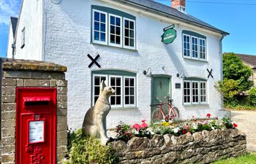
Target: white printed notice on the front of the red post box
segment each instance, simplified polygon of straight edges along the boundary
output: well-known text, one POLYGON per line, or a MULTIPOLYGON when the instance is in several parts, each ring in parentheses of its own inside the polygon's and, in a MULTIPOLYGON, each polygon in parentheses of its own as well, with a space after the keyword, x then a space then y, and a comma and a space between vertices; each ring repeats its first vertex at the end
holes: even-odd
POLYGON ((29 144, 45 141, 44 127, 44 120, 29 122, 29 144))

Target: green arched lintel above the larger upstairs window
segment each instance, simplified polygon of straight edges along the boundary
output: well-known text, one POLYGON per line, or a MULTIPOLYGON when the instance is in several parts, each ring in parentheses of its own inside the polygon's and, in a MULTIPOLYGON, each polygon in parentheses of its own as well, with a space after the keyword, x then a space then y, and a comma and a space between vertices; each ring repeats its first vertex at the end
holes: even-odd
POLYGON ((122 12, 118 9, 112 9, 112 8, 109 8, 109 7, 102 7, 102 6, 97 6, 97 5, 91 5, 91 9, 98 9, 102 12, 108 12, 109 14, 118 15, 118 16, 121 16, 121 17, 127 17, 131 20, 136 20, 135 16, 130 15, 126 12, 122 12))

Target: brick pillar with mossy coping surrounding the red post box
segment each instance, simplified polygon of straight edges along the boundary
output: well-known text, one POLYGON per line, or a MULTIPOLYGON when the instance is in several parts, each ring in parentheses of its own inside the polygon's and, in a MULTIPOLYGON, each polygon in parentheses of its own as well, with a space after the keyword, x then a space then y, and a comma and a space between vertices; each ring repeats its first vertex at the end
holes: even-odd
POLYGON ((1 87, 1 162, 15 163, 16 87, 56 87, 56 160, 67 154, 67 68, 33 60, 7 60, 2 63, 1 87))

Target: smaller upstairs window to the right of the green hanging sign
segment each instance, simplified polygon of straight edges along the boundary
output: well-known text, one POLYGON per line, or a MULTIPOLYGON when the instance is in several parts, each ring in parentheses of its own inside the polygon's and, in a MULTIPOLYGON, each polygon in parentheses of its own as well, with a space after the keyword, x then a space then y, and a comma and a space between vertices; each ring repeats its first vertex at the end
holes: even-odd
POLYGON ((206 60, 206 36, 183 31, 183 57, 206 60))

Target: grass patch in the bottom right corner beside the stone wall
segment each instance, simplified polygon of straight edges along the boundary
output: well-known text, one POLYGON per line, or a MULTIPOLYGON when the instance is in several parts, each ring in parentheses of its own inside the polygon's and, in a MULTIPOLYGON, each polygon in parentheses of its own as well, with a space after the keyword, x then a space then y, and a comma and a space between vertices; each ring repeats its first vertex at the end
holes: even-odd
POLYGON ((256 152, 241 157, 230 157, 225 160, 217 160, 212 164, 256 164, 256 152))

